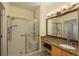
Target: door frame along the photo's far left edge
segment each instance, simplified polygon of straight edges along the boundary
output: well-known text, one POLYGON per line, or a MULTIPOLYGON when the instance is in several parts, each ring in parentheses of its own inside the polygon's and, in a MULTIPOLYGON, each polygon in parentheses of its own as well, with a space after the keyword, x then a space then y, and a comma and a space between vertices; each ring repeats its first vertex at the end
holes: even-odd
MULTIPOLYGON (((4 39, 4 34, 6 35, 6 33, 4 32, 4 22, 5 22, 5 18, 6 18, 6 16, 5 16, 5 7, 4 7, 4 5, 3 5, 3 3, 2 2, 0 2, 0 7, 1 7, 1 39, 0 39, 0 45, 1 45, 1 47, 0 47, 0 56, 2 56, 2 55, 6 55, 6 53, 7 53, 7 44, 6 44, 6 46, 4 47, 4 41, 5 41, 5 39, 4 39), (3 48, 4 47, 4 48, 3 48), (4 53, 4 49, 6 48, 6 51, 5 51, 5 53, 4 53)), ((6 43, 7 43, 7 41, 6 41, 6 43)))

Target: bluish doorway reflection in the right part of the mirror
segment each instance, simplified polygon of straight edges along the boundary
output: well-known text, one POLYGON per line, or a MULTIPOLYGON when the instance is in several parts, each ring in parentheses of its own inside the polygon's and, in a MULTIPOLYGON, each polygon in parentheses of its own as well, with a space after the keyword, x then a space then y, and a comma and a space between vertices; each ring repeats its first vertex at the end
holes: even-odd
POLYGON ((71 40, 76 40, 77 36, 77 20, 64 22, 64 37, 71 40))

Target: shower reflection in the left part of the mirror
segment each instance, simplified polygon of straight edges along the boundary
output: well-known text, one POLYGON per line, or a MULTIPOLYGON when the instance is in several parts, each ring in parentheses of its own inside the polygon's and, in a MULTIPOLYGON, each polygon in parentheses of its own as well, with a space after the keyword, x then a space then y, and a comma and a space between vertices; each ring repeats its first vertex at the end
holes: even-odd
POLYGON ((62 37, 62 24, 53 20, 48 20, 48 35, 62 37))

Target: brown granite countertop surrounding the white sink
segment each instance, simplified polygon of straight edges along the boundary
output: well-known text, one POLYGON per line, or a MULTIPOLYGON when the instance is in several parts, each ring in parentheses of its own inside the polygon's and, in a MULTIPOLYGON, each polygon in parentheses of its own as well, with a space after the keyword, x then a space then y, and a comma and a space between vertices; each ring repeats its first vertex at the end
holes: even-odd
POLYGON ((67 40, 65 40, 65 39, 60 39, 60 38, 51 37, 51 36, 42 36, 41 38, 42 38, 43 42, 51 45, 52 47, 56 46, 60 49, 63 49, 65 51, 75 55, 75 56, 79 56, 79 46, 72 45, 73 47, 76 48, 75 50, 69 50, 69 49, 66 49, 66 48, 63 48, 63 47, 60 46, 60 44, 62 44, 62 43, 65 43, 65 44, 67 43, 67 40))

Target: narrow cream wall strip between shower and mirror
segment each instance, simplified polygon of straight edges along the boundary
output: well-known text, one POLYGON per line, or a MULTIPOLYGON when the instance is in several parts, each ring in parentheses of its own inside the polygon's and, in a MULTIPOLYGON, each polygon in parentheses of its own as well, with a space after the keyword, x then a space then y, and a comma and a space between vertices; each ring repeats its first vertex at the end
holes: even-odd
POLYGON ((46 35, 46 6, 40 6, 40 36, 46 35))

